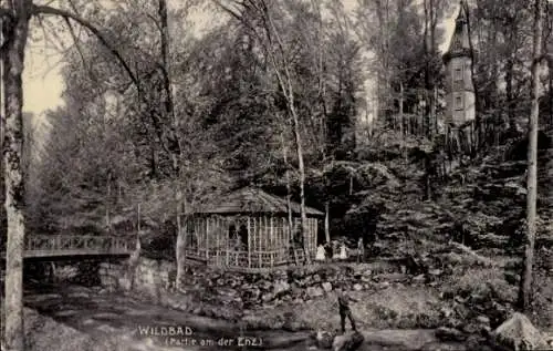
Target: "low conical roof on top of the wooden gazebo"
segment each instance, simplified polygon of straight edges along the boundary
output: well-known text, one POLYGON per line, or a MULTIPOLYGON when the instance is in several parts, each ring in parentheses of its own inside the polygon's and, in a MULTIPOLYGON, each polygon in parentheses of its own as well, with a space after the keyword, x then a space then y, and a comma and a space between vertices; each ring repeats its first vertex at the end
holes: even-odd
MULTIPOLYGON (((300 214, 300 204, 291 203, 292 213, 300 214)), ((197 214, 288 214, 286 200, 268 194, 261 189, 246 187, 227 194, 217 202, 209 204, 197 214)), ((315 208, 305 206, 307 216, 323 216, 324 214, 315 208)))

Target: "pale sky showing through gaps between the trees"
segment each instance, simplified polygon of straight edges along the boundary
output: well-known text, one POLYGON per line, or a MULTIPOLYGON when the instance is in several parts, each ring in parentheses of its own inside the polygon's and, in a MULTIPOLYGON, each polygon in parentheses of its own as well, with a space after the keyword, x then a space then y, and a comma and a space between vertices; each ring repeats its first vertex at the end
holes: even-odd
MULTIPOLYGON (((177 0, 174 0, 177 1, 177 0)), ((342 0, 346 9, 352 9, 356 0, 342 0)), ((195 18, 199 25, 207 25, 209 20, 195 18)), ((452 18, 446 24, 446 38, 451 37, 453 29, 452 18)), ((65 45, 71 43, 71 38, 62 37, 65 45)), ((447 43, 446 42, 446 43, 447 43)), ((23 110, 31 112, 39 118, 48 110, 55 109, 63 104, 62 93, 64 82, 60 74, 62 56, 59 53, 44 54, 44 43, 34 42, 28 45, 25 56, 25 71, 23 76, 24 103, 23 110)))

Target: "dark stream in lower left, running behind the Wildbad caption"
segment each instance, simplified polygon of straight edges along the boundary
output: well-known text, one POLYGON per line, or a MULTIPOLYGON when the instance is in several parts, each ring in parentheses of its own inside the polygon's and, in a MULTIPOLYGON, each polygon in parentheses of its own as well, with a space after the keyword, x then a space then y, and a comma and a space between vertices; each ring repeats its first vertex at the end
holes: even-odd
POLYGON ((229 321, 79 286, 28 283, 24 300, 29 308, 76 330, 124 340, 128 351, 307 350, 307 332, 241 331, 229 321))

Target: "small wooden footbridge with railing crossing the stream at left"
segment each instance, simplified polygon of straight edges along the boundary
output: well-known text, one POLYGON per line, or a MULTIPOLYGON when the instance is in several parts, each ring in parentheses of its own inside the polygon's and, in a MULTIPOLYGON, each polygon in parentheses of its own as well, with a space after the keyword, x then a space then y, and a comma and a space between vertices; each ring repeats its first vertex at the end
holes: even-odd
MULTIPOLYGON (((136 238, 92 235, 29 235, 24 258, 55 259, 67 257, 128 256, 136 238)), ((3 250, 2 250, 3 251, 3 250)), ((6 252, 0 257, 3 259, 6 252)))

